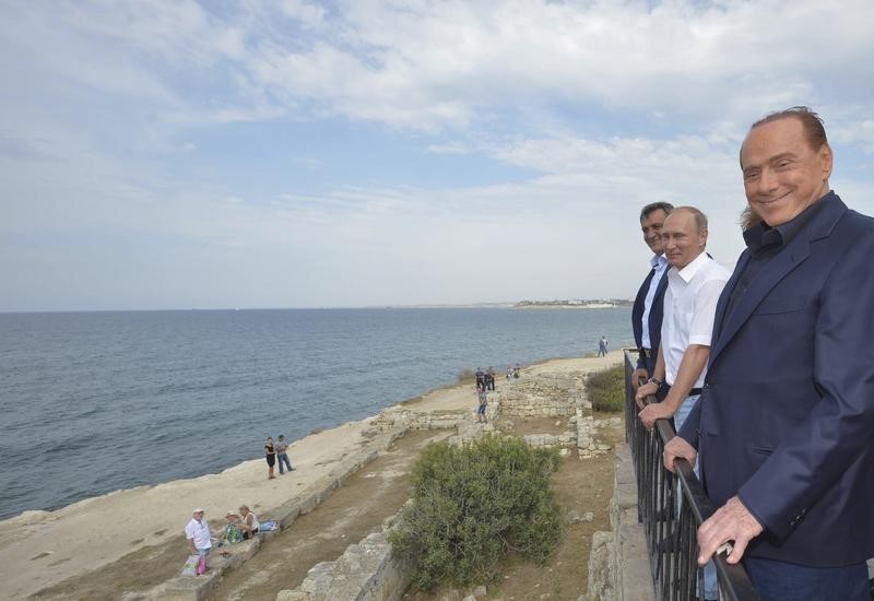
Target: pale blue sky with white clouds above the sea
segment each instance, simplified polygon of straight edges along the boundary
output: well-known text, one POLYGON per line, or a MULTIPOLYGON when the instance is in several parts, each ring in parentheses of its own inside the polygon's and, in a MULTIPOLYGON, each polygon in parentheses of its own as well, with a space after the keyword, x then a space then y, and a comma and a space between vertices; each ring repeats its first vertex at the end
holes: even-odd
POLYGON ((2 4, 0 310, 629 297, 798 104, 874 214, 870 0, 2 4))

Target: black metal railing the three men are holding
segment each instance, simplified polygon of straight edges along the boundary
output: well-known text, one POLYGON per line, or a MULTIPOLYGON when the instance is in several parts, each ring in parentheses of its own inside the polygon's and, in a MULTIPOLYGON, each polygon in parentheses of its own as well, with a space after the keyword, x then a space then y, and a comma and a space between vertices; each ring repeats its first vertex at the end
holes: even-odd
MULTIPOLYGON (((625 436, 631 447, 638 519, 646 531, 656 593, 659 599, 671 601, 704 599, 696 532, 716 508, 688 461, 676 460, 674 473, 664 468, 664 444, 676 436, 671 422, 659 420, 652 431, 647 431, 637 419, 631 387, 636 358, 635 351, 625 351, 625 436)), ((654 398, 647 401, 654 402, 654 398)), ((721 600, 759 598, 743 566, 729 565, 724 554, 716 556, 713 563, 721 600)))

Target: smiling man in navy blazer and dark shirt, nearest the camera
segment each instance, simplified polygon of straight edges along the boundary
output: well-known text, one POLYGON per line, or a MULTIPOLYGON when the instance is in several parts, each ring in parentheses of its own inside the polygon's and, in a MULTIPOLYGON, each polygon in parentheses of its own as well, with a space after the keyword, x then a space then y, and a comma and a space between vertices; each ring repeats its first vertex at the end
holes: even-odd
POLYGON ((664 449, 694 460, 719 509, 704 564, 733 541, 765 600, 867 600, 874 556, 874 220, 830 191, 806 107, 741 148, 747 249, 717 305, 704 391, 664 449))

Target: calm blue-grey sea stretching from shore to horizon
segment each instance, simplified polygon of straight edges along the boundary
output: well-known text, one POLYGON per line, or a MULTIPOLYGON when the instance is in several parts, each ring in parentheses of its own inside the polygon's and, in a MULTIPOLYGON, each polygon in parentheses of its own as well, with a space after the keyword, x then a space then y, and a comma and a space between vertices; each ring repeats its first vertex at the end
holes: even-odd
MULTIPOLYGON (((631 340, 630 309, 0 314, 0 518, 217 472, 461 369, 631 340)), ((292 458, 294 461, 294 458, 292 458)))

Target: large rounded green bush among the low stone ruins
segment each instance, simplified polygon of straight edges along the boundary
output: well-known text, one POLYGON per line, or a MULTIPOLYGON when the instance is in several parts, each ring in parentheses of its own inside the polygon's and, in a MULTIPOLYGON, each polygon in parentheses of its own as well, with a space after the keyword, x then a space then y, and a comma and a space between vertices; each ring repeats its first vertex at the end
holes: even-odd
POLYGON ((412 585, 494 581, 508 551, 545 563, 560 533, 550 483, 559 461, 556 449, 500 436, 427 447, 413 468, 413 504, 389 535, 412 585))

